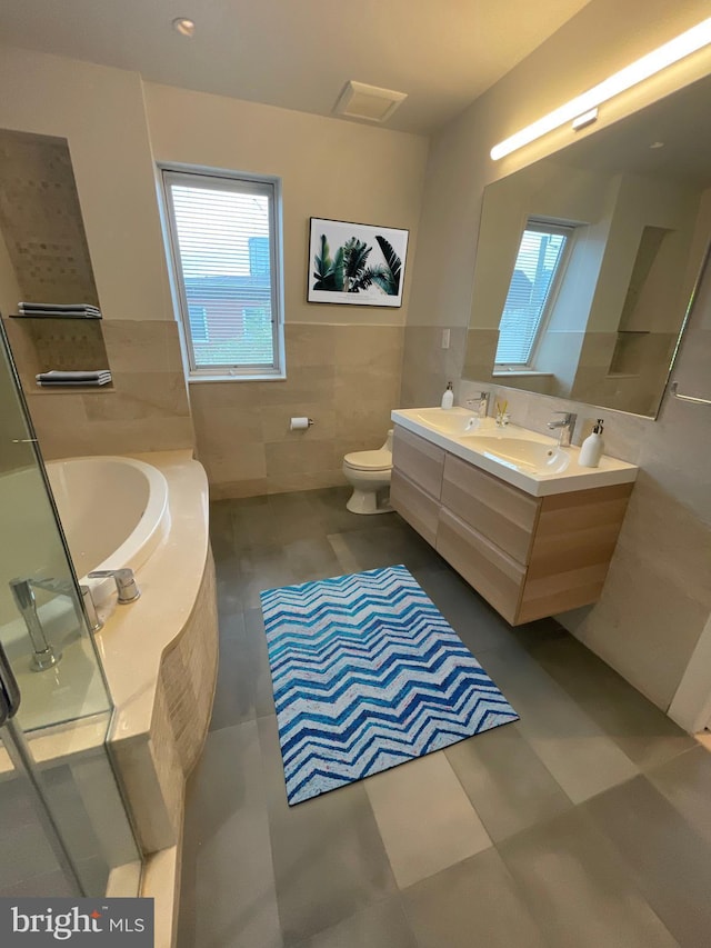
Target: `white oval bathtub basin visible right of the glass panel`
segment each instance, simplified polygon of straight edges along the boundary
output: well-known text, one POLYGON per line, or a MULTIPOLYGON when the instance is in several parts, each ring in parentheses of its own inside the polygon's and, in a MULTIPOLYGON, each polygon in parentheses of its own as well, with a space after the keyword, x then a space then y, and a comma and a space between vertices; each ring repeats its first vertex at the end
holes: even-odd
POLYGON ((47 475, 79 581, 97 606, 116 590, 99 569, 139 573, 170 529, 168 483, 152 465, 133 458, 89 457, 49 461, 47 475))

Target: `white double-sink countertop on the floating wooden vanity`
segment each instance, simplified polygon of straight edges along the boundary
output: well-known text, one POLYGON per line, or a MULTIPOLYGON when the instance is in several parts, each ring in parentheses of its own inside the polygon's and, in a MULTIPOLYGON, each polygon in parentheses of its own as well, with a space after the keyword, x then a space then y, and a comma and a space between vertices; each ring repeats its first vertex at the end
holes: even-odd
POLYGON ((392 411, 390 417, 395 425, 400 425, 413 435, 419 435, 451 455, 469 461, 533 497, 570 493, 574 490, 615 483, 631 483, 639 472, 635 465, 607 455, 602 456, 597 468, 581 467, 578 462, 580 448, 572 446, 559 448, 555 438, 539 435, 538 431, 530 431, 518 425, 498 428, 493 418, 480 420, 473 412, 459 407, 408 408, 392 411), (465 430, 468 425, 472 426, 470 430, 465 430), (507 439, 517 439, 517 443, 530 441, 545 446, 547 450, 543 453, 551 456, 551 466, 557 470, 545 470, 544 466, 538 466, 537 469, 534 463, 515 463, 497 457, 493 441, 500 441, 504 448, 507 439))

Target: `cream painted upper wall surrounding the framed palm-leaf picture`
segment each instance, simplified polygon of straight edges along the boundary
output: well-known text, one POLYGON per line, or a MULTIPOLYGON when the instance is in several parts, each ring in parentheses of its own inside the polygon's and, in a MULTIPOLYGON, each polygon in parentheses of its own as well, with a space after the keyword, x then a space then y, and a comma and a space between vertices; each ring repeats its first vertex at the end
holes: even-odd
POLYGON ((427 138, 150 82, 144 93, 157 161, 282 179, 288 322, 405 322, 427 138), (308 303, 310 217, 409 230, 403 307, 308 303))

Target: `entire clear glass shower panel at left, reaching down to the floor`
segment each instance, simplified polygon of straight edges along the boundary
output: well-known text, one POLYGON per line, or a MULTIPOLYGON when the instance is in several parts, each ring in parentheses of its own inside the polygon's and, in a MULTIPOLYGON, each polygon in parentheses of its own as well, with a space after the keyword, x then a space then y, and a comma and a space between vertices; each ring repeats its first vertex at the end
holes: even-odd
POLYGON ((0 729, 0 851, 18 854, 0 894, 133 896, 140 855, 104 744, 111 699, 34 437, 0 322, 0 643, 21 695, 16 739, 0 729))

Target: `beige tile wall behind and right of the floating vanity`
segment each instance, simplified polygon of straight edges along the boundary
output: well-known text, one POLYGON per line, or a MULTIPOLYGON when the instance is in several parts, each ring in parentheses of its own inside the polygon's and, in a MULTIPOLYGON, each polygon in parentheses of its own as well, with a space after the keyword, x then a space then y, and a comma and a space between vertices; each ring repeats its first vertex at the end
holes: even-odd
MULTIPOLYGON (((578 413, 573 442, 605 419, 605 452, 640 466, 602 597, 558 618, 659 707, 667 709, 711 612, 711 409, 667 397, 657 420, 579 401, 461 379, 467 330, 405 330, 402 406, 439 405, 454 378, 458 405, 482 389, 507 399, 511 420, 543 433, 558 410, 578 413)), ((711 398, 711 271, 702 282, 674 369, 680 388, 711 398)))

